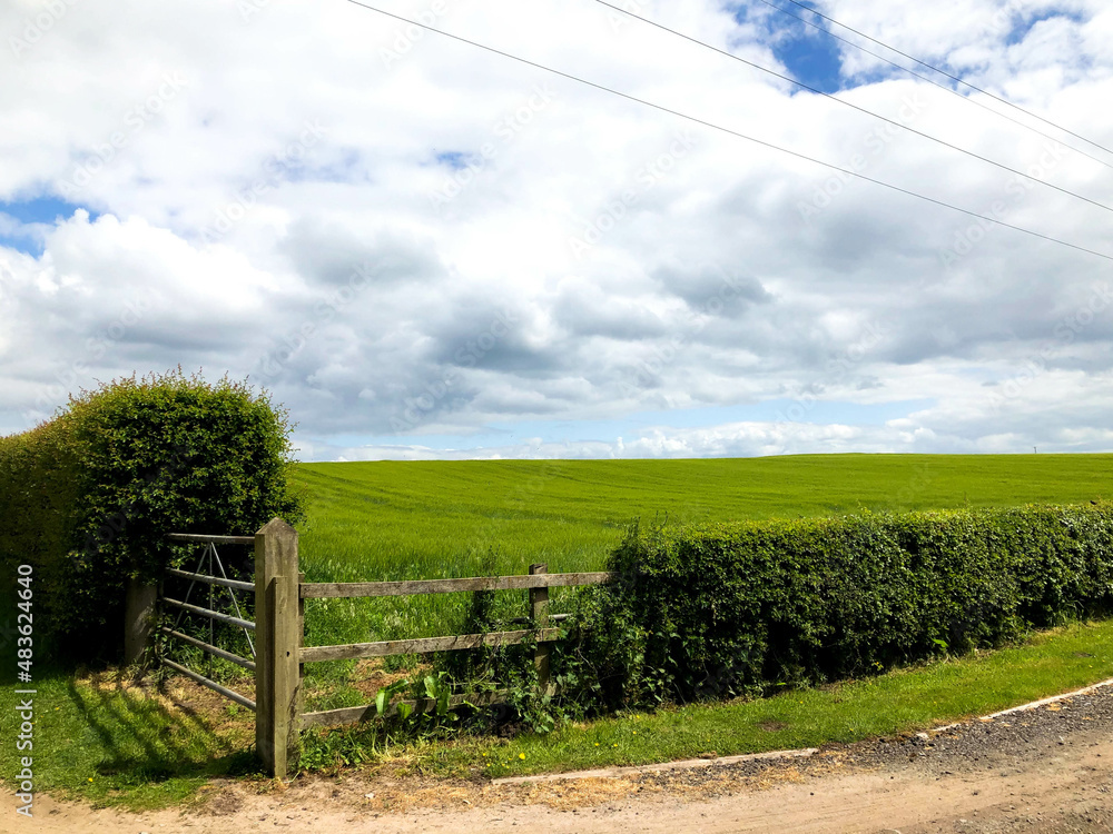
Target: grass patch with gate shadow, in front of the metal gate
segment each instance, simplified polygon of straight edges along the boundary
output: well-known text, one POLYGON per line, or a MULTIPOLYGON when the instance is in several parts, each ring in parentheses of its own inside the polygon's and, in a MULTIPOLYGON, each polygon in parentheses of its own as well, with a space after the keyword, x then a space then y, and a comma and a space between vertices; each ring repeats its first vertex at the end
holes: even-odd
POLYGON ((37 668, 33 747, 17 751, 14 687, 0 691, 0 777, 33 758, 35 791, 93 805, 157 808, 194 796, 211 776, 260 770, 253 717, 229 706, 199 715, 111 682, 37 668), (233 716, 233 712, 238 715, 233 716))

